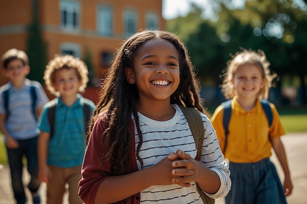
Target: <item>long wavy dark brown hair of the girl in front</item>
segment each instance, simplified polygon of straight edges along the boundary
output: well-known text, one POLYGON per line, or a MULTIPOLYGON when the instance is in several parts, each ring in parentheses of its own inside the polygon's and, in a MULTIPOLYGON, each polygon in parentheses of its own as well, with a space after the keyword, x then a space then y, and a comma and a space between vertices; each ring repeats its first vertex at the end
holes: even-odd
POLYGON ((203 107, 199 94, 199 83, 195 78, 194 67, 188 56, 184 43, 173 33, 162 30, 143 30, 132 35, 123 44, 120 44, 110 64, 107 75, 103 80, 100 100, 94 110, 90 122, 87 138, 89 139, 93 126, 99 113, 106 111, 107 124, 101 136, 102 148, 109 146, 110 149, 101 157, 101 163, 110 160, 111 172, 116 175, 128 166, 129 151, 128 144, 131 136, 130 120, 133 114, 136 129, 139 135, 136 157, 141 162, 139 150, 143 137, 139 127, 136 103, 138 101, 138 90, 135 84, 128 83, 125 75, 125 67, 133 67, 133 60, 142 45, 152 40, 165 40, 173 44, 179 53, 180 83, 177 90, 171 95, 171 104, 181 104, 186 107, 194 107, 200 112, 208 114, 203 107), (109 137, 109 140, 106 138, 109 137), (109 144, 105 144, 109 142, 109 144))

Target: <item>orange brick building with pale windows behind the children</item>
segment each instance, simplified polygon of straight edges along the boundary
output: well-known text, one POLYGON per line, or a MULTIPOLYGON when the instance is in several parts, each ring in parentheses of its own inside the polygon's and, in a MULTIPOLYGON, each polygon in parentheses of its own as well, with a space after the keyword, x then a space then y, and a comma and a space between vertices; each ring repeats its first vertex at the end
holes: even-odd
MULTIPOLYGON (((162 0, 1 0, 0 55, 13 47, 26 51, 35 3, 48 61, 58 53, 84 59, 89 50, 99 79, 124 39, 141 28, 165 28, 162 0)), ((6 82, 1 74, 0 86, 6 82)))

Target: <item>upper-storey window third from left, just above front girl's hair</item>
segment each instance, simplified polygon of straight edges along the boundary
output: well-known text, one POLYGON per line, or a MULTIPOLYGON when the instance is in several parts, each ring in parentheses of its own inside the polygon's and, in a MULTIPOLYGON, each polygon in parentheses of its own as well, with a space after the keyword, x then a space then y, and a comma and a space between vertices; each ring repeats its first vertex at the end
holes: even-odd
POLYGON ((124 11, 124 35, 130 37, 136 32, 137 14, 133 10, 124 11))

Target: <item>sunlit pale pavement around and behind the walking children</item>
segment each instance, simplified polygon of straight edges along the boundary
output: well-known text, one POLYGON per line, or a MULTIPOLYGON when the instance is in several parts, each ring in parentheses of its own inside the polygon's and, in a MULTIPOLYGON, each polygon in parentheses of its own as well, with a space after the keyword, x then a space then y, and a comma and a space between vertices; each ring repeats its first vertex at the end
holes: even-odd
MULTIPOLYGON (((285 146, 287 158, 294 185, 293 192, 287 197, 288 204, 307 204, 307 133, 291 133, 282 136, 281 140, 285 146)), ((283 172, 275 155, 272 161, 276 165, 277 171, 283 181, 283 172)), ((24 171, 24 181, 27 183, 29 176, 24 171)), ((15 204, 11 188, 10 174, 8 166, 0 165, 0 204, 15 204)), ((42 183, 39 191, 42 196, 42 203, 46 204, 46 184, 42 183)), ((26 192, 30 198, 29 191, 26 192)), ((26 204, 32 204, 32 201, 26 204)), ((225 204, 224 199, 217 199, 216 204, 225 204)), ((64 195, 63 204, 68 204, 67 194, 64 195)))

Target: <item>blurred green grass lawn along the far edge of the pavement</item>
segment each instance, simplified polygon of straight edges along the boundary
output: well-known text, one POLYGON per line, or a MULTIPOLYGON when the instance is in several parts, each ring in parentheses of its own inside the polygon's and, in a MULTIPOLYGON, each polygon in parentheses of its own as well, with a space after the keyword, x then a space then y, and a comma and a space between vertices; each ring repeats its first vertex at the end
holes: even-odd
MULTIPOLYGON (((213 113, 216 107, 209 107, 208 111, 213 113)), ((307 132, 307 107, 304 108, 278 108, 281 123, 286 133, 307 132)), ((0 133, 0 164, 6 164, 6 149, 0 133)))

